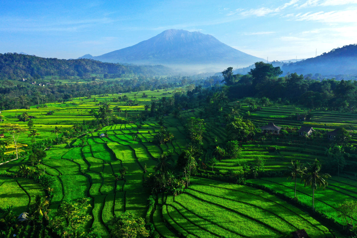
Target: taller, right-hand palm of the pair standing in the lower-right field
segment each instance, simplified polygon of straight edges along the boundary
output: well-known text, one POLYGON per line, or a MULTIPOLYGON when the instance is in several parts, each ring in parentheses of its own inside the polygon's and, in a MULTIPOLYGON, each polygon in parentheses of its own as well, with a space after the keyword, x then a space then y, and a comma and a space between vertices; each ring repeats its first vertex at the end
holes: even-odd
POLYGON ((317 185, 319 187, 322 187, 323 189, 326 188, 328 185, 327 181, 325 179, 330 178, 330 174, 328 173, 319 173, 321 169, 321 164, 320 162, 315 159, 313 163, 308 163, 306 173, 304 176, 304 181, 305 181, 305 187, 311 186, 312 188, 312 210, 315 211, 315 190, 317 189, 317 185))

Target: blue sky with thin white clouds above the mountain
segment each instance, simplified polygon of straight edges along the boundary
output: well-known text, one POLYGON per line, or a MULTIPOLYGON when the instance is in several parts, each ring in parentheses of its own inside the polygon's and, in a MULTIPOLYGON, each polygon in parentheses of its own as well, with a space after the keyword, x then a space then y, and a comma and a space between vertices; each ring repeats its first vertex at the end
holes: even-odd
POLYGON ((0 1, 0 53, 97 56, 167 29, 269 61, 308 58, 357 44, 357 0, 0 1))

